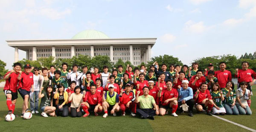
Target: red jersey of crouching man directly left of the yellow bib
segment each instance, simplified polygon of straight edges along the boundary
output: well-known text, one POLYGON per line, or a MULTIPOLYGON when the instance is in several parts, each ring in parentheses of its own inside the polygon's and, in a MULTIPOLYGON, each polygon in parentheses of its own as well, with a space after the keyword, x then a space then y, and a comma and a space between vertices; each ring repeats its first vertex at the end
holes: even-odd
POLYGON ((90 105, 97 105, 101 104, 101 96, 99 93, 92 94, 91 92, 86 92, 85 97, 83 98, 83 101, 86 102, 90 105))

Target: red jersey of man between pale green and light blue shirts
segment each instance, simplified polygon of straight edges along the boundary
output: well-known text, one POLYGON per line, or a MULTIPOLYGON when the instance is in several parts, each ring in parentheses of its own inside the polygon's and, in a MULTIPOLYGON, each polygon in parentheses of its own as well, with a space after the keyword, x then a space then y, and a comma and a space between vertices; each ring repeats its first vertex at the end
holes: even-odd
POLYGON ((168 89, 162 90, 161 98, 160 98, 161 105, 166 106, 170 104, 171 103, 170 101, 167 104, 164 103, 164 101, 169 98, 178 98, 178 91, 175 88, 172 88, 171 91, 169 91, 168 89))

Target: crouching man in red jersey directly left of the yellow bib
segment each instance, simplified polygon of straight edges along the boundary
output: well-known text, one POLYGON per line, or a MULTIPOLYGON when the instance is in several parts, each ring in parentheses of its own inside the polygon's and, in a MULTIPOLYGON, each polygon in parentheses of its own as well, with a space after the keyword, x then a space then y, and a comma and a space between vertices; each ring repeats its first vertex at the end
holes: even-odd
POLYGON ((99 113, 102 112, 102 98, 99 93, 96 93, 96 85, 91 84, 90 86, 90 92, 84 92, 83 95, 83 103, 81 103, 81 107, 84 110, 85 114, 83 117, 87 117, 90 115, 90 110, 93 110, 94 114, 96 116, 99 115, 99 113))

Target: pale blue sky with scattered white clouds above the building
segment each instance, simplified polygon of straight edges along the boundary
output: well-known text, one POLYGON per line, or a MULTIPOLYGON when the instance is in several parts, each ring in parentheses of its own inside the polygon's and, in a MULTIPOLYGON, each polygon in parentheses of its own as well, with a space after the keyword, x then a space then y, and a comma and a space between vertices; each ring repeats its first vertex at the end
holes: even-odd
MULTIPOLYGON (((6 40, 70 39, 95 29, 111 38, 157 37, 152 57, 184 64, 197 58, 256 51, 256 0, 0 0, 0 59, 11 68, 6 40), (8 57, 6 57, 8 56, 8 57)), ((26 53, 19 51, 19 59, 26 53)))

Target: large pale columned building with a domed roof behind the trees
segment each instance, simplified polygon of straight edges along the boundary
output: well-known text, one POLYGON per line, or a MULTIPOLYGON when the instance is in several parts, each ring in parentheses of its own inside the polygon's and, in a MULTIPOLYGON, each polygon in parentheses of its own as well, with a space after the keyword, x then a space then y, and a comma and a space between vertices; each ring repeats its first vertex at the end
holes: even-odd
POLYGON ((26 51, 26 59, 37 60, 53 56, 72 58, 79 54, 88 56, 109 56, 113 63, 118 59, 140 65, 151 58, 151 48, 157 38, 110 38, 101 31, 81 31, 71 39, 52 40, 7 40, 15 48, 15 62, 18 61, 18 50, 26 51))

